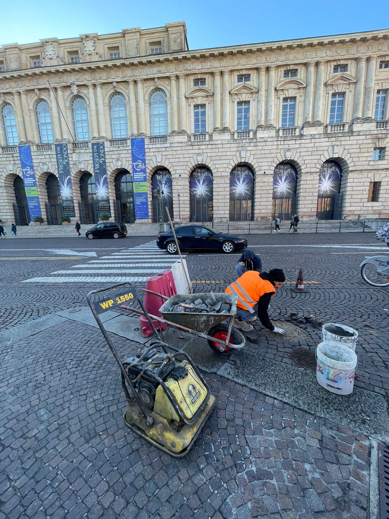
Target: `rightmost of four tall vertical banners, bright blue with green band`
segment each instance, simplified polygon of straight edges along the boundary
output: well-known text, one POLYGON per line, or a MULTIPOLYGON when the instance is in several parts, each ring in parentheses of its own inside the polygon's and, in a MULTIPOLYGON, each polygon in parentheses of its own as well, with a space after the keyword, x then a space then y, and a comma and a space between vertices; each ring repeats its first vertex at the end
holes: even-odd
POLYGON ((148 218, 146 152, 144 139, 131 139, 135 218, 148 218))

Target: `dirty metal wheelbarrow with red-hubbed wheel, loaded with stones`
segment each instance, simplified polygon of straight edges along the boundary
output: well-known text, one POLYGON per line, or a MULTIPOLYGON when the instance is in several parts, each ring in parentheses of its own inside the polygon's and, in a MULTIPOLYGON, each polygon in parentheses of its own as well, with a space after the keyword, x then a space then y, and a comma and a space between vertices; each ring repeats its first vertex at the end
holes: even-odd
MULTIPOLYGON (((217 303, 224 304, 227 301, 232 301, 230 313, 187 313, 176 312, 172 308, 187 300, 194 303, 199 297, 207 297, 209 294, 176 294, 166 297, 147 289, 143 289, 143 292, 157 295, 166 300, 159 309, 163 317, 153 316, 149 313, 151 319, 172 326, 178 331, 206 339, 210 348, 216 353, 231 353, 231 349, 240 349, 245 345, 246 339, 243 334, 232 327, 233 318, 237 313, 238 296, 236 294, 214 294, 217 303), (229 320, 229 322, 223 322, 226 320, 229 320)), ((141 316, 145 315, 143 311, 131 306, 121 305, 119 308, 130 310, 141 316)), ((160 331, 160 333, 162 332, 160 331)))

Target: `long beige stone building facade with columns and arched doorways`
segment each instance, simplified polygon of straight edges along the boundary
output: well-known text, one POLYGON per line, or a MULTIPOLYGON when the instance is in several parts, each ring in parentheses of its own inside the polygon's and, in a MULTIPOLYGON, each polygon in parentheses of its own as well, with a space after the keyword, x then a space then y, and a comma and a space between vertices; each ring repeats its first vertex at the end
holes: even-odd
POLYGON ((104 142, 112 219, 135 221, 131 138, 145 139, 149 219, 389 216, 388 30, 189 50, 184 22, 0 47, 0 218, 30 221, 31 145, 45 223, 60 223, 54 143, 75 214, 98 221, 104 142), (159 190, 158 190, 159 189, 159 190))

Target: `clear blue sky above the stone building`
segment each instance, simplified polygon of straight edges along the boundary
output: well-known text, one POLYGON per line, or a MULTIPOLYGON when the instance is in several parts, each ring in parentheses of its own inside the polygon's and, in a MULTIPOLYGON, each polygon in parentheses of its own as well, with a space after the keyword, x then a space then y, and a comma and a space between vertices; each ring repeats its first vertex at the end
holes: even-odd
POLYGON ((3 0, 0 45, 148 29, 185 20, 190 49, 389 27, 389 2, 361 0, 3 0), (39 8, 37 8, 39 6, 39 8))

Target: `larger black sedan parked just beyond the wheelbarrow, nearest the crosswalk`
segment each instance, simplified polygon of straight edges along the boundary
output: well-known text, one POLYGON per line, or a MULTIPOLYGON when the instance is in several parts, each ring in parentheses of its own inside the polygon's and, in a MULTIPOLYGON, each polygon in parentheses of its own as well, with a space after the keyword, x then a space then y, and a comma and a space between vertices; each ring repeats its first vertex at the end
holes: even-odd
MULTIPOLYGON (((219 233, 215 229, 205 227, 205 225, 182 225, 174 229, 179 248, 182 250, 200 250, 231 253, 235 250, 246 249, 247 238, 244 236, 231 236, 230 234, 219 233)), ((160 249, 166 249, 170 254, 177 252, 177 245, 174 241, 173 231, 159 233, 157 245, 160 249)))

